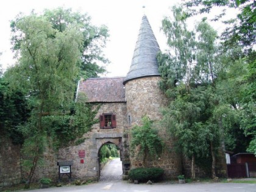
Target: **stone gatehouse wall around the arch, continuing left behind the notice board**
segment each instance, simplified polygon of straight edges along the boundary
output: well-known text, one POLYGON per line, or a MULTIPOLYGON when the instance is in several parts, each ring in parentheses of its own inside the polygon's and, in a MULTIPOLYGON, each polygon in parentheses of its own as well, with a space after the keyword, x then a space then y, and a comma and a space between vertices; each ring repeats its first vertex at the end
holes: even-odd
MULTIPOLYGON (((96 108, 96 105, 95 105, 96 108)), ((44 154, 44 164, 38 166, 35 171, 34 180, 41 177, 51 177, 55 181, 59 177, 59 166, 57 162, 72 161, 72 178, 82 180, 98 180, 100 174, 98 152, 105 143, 114 143, 123 149, 123 132, 127 129, 126 103, 101 104, 96 119, 102 113, 113 113, 116 115, 116 128, 100 129, 99 123, 94 124, 92 130, 84 134, 85 141, 77 146, 69 146, 59 149, 59 152, 48 151, 44 154), (85 157, 79 157, 79 151, 85 151, 85 157)), ((121 158, 123 153, 121 152, 121 158)), ((63 180, 68 180, 63 176, 63 180)))

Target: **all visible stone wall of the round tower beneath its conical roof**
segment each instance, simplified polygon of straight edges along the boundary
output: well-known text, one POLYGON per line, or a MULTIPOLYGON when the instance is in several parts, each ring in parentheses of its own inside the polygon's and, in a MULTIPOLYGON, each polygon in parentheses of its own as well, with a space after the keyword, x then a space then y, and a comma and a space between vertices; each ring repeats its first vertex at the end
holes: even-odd
MULTIPOLYGON (((162 119, 161 108, 165 107, 168 102, 158 86, 159 80, 160 77, 144 77, 126 83, 127 115, 130 116, 129 129, 135 125, 141 126, 141 118, 144 115, 156 122, 162 119)), ((148 166, 163 168, 166 179, 175 178, 182 171, 180 155, 174 151, 173 141, 166 129, 161 126, 157 127, 159 136, 165 142, 165 150, 157 160, 149 160, 148 166)), ((142 166, 140 158, 130 157, 130 160, 132 168, 142 166)))

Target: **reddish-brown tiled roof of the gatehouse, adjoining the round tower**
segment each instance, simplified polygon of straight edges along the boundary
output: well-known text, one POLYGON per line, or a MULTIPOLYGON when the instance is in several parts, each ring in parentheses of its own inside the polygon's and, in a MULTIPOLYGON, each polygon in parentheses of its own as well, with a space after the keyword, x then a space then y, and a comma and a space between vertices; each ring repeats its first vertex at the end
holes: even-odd
POLYGON ((88 102, 126 102, 124 77, 99 77, 81 80, 78 92, 85 93, 88 102))

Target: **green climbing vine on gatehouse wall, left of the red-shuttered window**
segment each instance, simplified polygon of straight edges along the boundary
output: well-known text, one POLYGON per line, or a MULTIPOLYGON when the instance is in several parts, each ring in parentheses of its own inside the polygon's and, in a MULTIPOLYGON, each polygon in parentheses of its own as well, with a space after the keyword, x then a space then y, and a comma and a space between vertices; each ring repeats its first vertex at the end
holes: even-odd
POLYGON ((48 134, 54 141, 54 148, 59 149, 71 144, 83 143, 85 141, 84 133, 89 132, 93 124, 99 121, 95 119, 99 107, 100 105, 97 105, 93 110, 93 104, 80 101, 74 104, 71 115, 46 117, 45 120, 50 123, 48 134))

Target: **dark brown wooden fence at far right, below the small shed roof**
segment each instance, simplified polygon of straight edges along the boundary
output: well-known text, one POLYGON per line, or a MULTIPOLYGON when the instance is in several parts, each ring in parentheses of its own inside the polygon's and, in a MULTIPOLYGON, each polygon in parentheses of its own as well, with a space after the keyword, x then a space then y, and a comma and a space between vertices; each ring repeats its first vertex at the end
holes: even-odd
POLYGON ((229 178, 256 178, 256 163, 232 163, 227 165, 227 176, 229 178))

